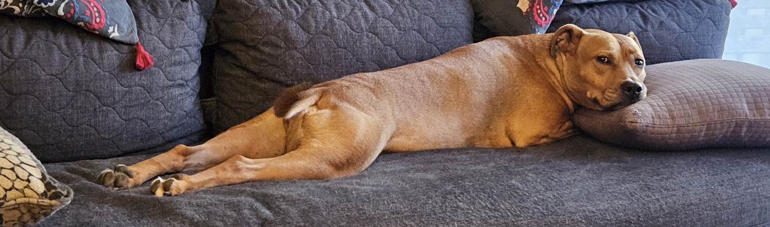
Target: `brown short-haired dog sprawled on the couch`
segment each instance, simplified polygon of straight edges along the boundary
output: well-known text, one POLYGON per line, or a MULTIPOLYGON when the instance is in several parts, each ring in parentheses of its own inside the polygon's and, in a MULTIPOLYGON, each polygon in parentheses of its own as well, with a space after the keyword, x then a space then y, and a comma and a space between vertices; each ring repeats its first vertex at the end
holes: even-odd
POLYGON ((646 95, 633 33, 564 25, 490 38, 438 58, 287 89, 271 110, 200 146, 174 147, 99 183, 156 196, 266 179, 359 173, 383 150, 531 146, 575 133, 575 107, 613 110, 646 95))

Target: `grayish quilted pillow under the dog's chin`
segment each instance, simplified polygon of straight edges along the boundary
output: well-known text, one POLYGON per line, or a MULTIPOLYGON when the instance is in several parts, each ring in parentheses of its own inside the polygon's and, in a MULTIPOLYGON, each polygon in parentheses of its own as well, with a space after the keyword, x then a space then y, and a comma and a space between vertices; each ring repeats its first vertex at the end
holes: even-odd
POLYGON ((770 69, 702 59, 650 65, 648 97, 573 122, 598 140, 644 150, 770 146, 770 69))

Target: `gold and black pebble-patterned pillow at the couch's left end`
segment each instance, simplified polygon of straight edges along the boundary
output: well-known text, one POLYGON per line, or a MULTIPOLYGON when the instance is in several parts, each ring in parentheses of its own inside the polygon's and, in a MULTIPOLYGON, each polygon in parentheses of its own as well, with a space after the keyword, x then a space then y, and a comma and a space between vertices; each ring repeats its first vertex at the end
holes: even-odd
POLYGON ((28 226, 72 200, 72 189, 53 179, 22 141, 0 128, 0 222, 28 226))

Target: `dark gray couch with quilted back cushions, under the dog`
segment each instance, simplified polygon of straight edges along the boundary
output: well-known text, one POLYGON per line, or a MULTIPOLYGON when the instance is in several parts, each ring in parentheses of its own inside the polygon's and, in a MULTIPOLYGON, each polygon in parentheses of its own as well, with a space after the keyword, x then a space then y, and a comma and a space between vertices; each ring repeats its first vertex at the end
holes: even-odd
MULTIPOLYGON (((132 68, 129 45, 64 22, 0 16, 0 31, 11 31, 0 33, 0 127, 75 192, 41 226, 770 223, 770 149, 662 153, 584 135, 527 148, 383 154, 340 179, 243 183, 163 198, 152 196, 147 183, 107 189, 93 183, 102 169, 177 143, 203 143, 263 111, 281 87, 433 58, 472 42, 474 31, 473 8, 464 0, 128 2, 142 44, 159 59, 146 71, 132 68), (356 17, 366 23, 350 19, 356 17), (408 29, 386 32, 400 26, 408 29), (366 36, 340 41, 353 34, 366 36), (239 42, 243 35, 256 42, 239 42), (255 47, 264 51, 243 51, 255 47), (276 57, 283 53, 296 58, 276 57), (350 57, 323 58, 335 53, 350 57), (237 63, 254 59, 260 61, 237 63)), ((727 0, 563 5, 549 30, 574 23, 634 31, 651 64, 721 58, 729 11, 727 0)))

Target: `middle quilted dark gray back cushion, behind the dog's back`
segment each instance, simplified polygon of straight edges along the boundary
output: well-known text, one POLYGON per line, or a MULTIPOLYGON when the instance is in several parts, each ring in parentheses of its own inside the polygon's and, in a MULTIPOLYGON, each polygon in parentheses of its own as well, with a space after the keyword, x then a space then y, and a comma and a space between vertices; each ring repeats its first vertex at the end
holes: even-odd
POLYGON ((216 129, 267 110, 280 90, 437 57, 472 41, 462 0, 221 1, 216 129))

